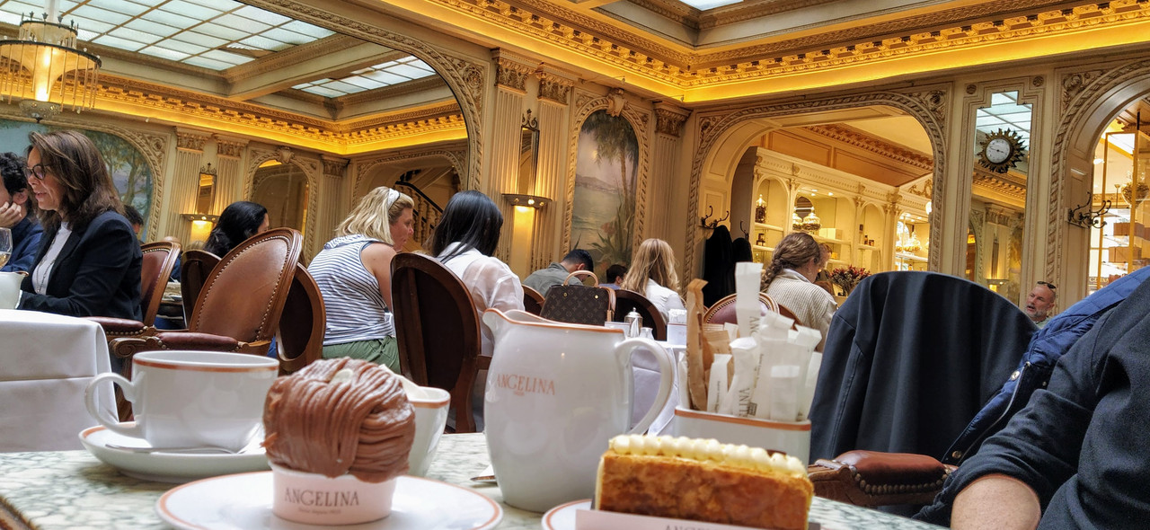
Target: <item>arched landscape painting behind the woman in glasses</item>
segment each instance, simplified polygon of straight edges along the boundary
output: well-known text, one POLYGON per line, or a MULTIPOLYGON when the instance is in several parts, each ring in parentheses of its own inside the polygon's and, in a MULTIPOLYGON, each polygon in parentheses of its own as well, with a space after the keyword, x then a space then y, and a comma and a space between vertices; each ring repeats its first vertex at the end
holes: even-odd
MULTIPOLYGON (((51 128, 38 123, 17 122, 14 120, 0 120, 0 153, 13 152, 24 156, 28 151, 28 133, 51 132, 60 128, 51 128)), ((132 205, 146 220, 152 208, 152 168, 139 152, 128 140, 107 132, 80 130, 84 136, 92 139, 95 147, 103 156, 103 163, 112 174, 112 182, 120 192, 120 200, 125 205, 132 205)), ((146 230, 145 223, 145 230, 146 230)), ((140 233, 144 238, 145 235, 140 233)))

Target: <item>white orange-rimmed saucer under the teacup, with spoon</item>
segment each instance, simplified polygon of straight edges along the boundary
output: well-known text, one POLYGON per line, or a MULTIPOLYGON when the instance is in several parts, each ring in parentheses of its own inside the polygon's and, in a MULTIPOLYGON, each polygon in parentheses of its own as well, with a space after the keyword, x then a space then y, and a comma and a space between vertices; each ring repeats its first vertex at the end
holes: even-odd
POLYGON ((87 452, 101 462, 120 469, 124 475, 144 481, 179 483, 269 469, 268 455, 263 452, 263 447, 255 447, 240 454, 132 453, 109 448, 107 444, 125 447, 151 446, 144 439, 118 435, 102 425, 84 429, 79 433, 79 440, 87 452))

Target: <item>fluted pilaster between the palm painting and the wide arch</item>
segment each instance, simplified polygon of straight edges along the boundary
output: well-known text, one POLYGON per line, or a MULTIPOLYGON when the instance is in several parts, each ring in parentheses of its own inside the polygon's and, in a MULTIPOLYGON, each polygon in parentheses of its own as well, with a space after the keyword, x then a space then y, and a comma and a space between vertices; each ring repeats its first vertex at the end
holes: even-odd
POLYGON ((681 229, 678 217, 670 215, 674 212, 672 184, 683 144, 683 122, 690 115, 690 110, 673 105, 665 102, 654 105, 654 148, 651 156, 653 163, 651 178, 647 179, 651 202, 647 205, 647 233, 644 237, 670 239, 672 230, 675 226, 681 229))

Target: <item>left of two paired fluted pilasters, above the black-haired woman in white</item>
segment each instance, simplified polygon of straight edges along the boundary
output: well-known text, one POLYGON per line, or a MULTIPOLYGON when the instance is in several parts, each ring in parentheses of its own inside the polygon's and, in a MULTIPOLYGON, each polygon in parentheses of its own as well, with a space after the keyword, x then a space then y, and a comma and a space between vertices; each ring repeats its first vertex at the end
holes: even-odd
POLYGON ((506 51, 497 49, 492 57, 498 61, 496 76, 496 105, 492 123, 491 175, 483 190, 499 206, 504 216, 503 231, 496 256, 511 259, 512 235, 515 232, 515 212, 504 193, 519 193, 519 146, 520 126, 523 115, 523 99, 527 95, 527 79, 535 67, 524 59, 506 51))

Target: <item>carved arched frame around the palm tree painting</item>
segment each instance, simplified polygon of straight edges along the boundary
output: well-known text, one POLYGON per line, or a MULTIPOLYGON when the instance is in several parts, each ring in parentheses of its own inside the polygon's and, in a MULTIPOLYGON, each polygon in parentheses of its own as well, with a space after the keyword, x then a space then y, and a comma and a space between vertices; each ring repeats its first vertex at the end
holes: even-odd
MULTIPOLYGON (((572 129, 567 135, 567 190, 566 190, 566 205, 564 212, 564 239, 561 248, 570 248, 572 246, 572 214, 573 208, 570 205, 575 203, 575 166, 576 159, 578 156, 578 136, 580 130, 583 129, 583 122, 586 117, 596 110, 606 110, 610 105, 610 98, 595 94, 592 92, 586 92, 581 89, 576 89, 575 101, 577 103, 575 108, 575 114, 572 117, 572 129)), ((627 122, 635 129, 635 137, 638 140, 638 164, 635 168, 635 225, 631 229, 631 246, 638 247, 643 239, 645 238, 644 221, 646 218, 646 193, 650 177, 650 158, 651 158, 651 140, 647 133, 647 124, 651 121, 651 115, 649 112, 638 110, 634 105, 627 105, 622 109, 621 116, 627 120, 627 122)), ((676 291, 680 289, 675 285, 673 289, 676 291)))

